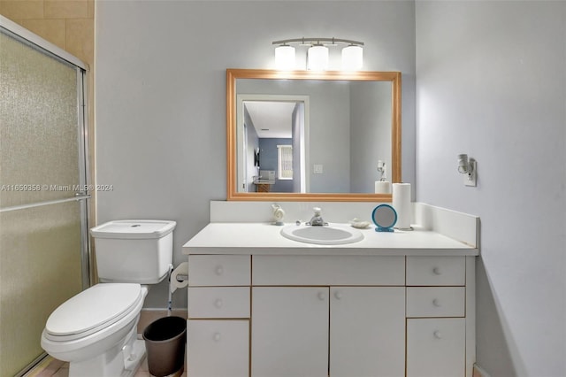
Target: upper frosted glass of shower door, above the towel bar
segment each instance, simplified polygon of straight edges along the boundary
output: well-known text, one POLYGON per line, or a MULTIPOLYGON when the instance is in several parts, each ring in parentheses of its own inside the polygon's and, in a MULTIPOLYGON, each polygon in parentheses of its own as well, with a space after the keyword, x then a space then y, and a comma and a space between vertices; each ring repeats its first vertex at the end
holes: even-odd
POLYGON ((0 207, 74 196, 77 70, 0 34, 0 207))

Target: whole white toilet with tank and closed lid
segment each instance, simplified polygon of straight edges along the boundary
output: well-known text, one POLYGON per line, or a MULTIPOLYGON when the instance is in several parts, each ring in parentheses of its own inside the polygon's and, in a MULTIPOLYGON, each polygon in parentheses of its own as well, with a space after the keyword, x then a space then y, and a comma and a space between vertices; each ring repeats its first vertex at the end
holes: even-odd
POLYGON ((51 313, 42 349, 69 362, 69 376, 133 376, 145 356, 137 322, 148 285, 172 267, 175 221, 119 220, 90 229, 99 283, 51 313))

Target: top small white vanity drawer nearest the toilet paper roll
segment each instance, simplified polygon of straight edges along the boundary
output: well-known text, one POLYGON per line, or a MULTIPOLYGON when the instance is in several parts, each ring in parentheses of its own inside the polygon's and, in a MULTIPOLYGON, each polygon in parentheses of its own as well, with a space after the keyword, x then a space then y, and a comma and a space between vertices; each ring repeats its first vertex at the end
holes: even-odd
POLYGON ((248 255, 189 255, 188 285, 249 286, 248 255))

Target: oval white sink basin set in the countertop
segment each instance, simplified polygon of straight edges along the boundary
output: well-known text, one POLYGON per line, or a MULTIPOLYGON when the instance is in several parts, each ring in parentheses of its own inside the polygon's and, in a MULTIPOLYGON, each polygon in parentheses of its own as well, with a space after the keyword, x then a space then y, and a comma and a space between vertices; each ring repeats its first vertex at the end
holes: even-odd
POLYGON ((289 225, 281 229, 281 235, 290 240, 319 245, 343 245, 363 240, 363 233, 359 230, 337 224, 324 227, 289 225))

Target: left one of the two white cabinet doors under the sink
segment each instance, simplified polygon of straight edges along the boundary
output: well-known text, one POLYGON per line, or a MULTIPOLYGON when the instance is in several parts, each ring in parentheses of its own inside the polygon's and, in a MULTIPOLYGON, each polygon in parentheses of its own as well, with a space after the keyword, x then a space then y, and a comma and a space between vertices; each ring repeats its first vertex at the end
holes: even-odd
POLYGON ((327 377, 328 288, 252 289, 251 375, 327 377))

